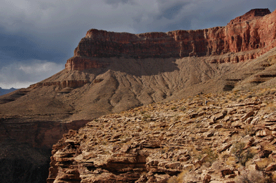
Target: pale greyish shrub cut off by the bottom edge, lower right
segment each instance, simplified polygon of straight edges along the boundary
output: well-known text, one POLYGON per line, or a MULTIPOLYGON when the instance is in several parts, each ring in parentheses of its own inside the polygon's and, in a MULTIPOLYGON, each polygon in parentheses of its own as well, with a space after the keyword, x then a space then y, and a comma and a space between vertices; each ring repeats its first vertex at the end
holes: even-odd
POLYGON ((268 183, 269 177, 264 176, 262 171, 242 171, 241 175, 235 178, 236 183, 268 183))

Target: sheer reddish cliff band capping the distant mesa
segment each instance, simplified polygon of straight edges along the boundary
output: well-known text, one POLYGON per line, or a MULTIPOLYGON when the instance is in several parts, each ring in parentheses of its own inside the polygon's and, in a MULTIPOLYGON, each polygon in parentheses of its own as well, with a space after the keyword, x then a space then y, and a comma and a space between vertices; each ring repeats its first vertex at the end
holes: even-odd
POLYGON ((79 42, 74 57, 66 63, 66 69, 103 67, 97 62, 97 58, 101 57, 181 58, 256 50, 254 53, 213 62, 247 61, 275 47, 275 22, 275 11, 270 13, 268 9, 255 9, 233 19, 226 27, 204 30, 130 34, 92 29, 79 42))

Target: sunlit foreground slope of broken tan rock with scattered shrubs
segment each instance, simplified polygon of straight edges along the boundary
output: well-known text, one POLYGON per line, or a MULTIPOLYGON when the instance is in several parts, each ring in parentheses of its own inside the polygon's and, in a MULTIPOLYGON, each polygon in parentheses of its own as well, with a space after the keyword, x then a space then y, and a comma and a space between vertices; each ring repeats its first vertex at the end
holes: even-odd
POLYGON ((102 116, 53 146, 47 181, 275 182, 275 94, 198 95, 102 116))

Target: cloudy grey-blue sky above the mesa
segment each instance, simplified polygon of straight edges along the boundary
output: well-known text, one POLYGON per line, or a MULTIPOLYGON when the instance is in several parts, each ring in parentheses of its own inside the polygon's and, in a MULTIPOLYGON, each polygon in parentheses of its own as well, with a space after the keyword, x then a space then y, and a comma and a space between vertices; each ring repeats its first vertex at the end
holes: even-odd
POLYGON ((225 26, 275 0, 1 0, 0 87, 28 87, 64 69, 91 28, 168 32, 225 26))

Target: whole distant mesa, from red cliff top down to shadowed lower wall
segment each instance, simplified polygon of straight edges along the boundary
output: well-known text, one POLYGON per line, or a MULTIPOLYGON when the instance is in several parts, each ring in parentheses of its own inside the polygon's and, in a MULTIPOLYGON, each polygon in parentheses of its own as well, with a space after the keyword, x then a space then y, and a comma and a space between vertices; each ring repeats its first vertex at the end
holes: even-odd
POLYGON ((81 52, 85 54, 78 56, 76 51, 75 56, 68 60, 66 69, 27 89, 0 96, 0 145, 1 149, 4 149, 0 154, 0 165, 10 170, 1 169, 3 173, 0 173, 0 179, 8 182, 12 177, 16 177, 19 182, 22 177, 24 182, 41 182, 41 177, 36 179, 33 175, 43 172, 45 176, 48 172, 46 162, 50 158, 49 153, 43 154, 41 151, 50 151, 52 144, 61 138, 61 133, 66 133, 70 128, 79 129, 83 125, 82 122, 105 114, 197 94, 276 85, 276 48, 270 49, 275 41, 272 34, 266 34, 266 30, 273 32, 275 29, 275 12, 266 14, 268 12, 264 10, 264 13, 260 13, 262 16, 258 16, 257 12, 262 12, 260 10, 253 12, 240 18, 240 22, 226 25, 224 28, 174 31, 187 47, 193 48, 192 43, 195 45, 195 54, 190 54, 193 49, 189 48, 188 51, 184 50, 183 57, 179 56, 179 50, 174 50, 177 46, 179 48, 181 42, 175 41, 173 32, 145 33, 140 34, 139 38, 139 34, 91 30, 90 32, 99 34, 93 33, 93 38, 91 33, 90 38, 83 39, 85 44, 80 42, 76 50, 84 50, 81 52), (266 15, 263 17, 264 14, 266 15), (253 27, 257 28, 254 35, 256 43, 259 43, 258 48, 254 45, 253 36, 249 38, 246 32, 237 34, 244 31, 245 25, 250 25, 250 31, 253 27), (226 34, 229 30, 226 28, 233 29, 226 34), (198 32, 201 33, 197 34, 198 32), (208 39, 205 39, 202 32, 213 32, 213 36, 206 33, 208 39), (129 36, 129 40, 132 37, 139 40, 133 42, 135 49, 129 53, 126 49, 130 42, 124 42, 125 34, 129 36), (105 35, 106 38, 103 37, 105 35), (215 40, 219 41, 220 35, 229 38, 233 36, 233 44, 218 44, 215 40), (237 35, 242 36, 242 39, 239 39, 241 41, 237 41, 237 35), (110 41, 111 38, 114 40, 110 41), (105 42, 105 39, 109 41, 105 42), (248 43, 247 46, 247 42, 243 40, 249 40, 253 45, 249 46, 248 43), (244 44, 240 52, 239 44, 234 44, 235 41, 244 44), (150 45, 151 43, 155 46, 150 45), (93 44, 98 46, 94 47, 93 44), (223 46, 219 48, 218 45, 221 44, 223 46), (115 47, 111 47, 112 45, 115 47), (200 48, 199 45, 204 46, 200 48), (224 49, 224 45, 229 47, 224 49), (119 47, 121 50, 118 50, 119 47), (214 47, 221 50, 213 52, 214 47), (107 51, 107 48, 113 50, 114 54, 107 51), (92 55, 91 50, 95 49, 97 52, 93 51, 92 55), (153 50, 148 52, 147 49, 153 50), (176 56, 168 56, 162 49, 176 56), (237 49, 237 52, 232 52, 231 49, 237 49), (223 50, 228 51, 224 53, 223 50), (108 52, 110 55, 104 54, 108 52), (120 54, 117 54, 118 52, 120 54), (137 54, 142 52, 142 58, 138 58, 137 54), (157 56, 152 56, 152 52, 157 56), (254 59, 250 62, 240 62, 244 61, 244 58, 254 59), (33 157, 36 157, 36 160, 33 157), (21 169, 16 169, 15 164, 21 169))

